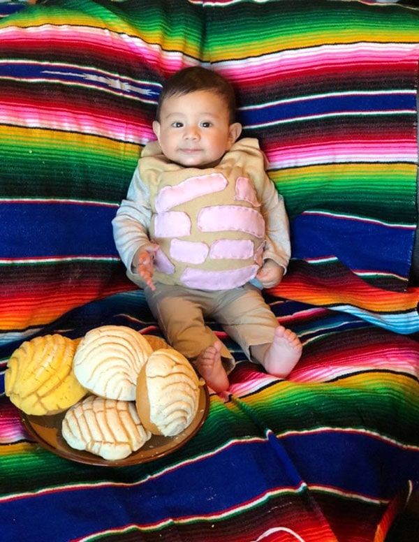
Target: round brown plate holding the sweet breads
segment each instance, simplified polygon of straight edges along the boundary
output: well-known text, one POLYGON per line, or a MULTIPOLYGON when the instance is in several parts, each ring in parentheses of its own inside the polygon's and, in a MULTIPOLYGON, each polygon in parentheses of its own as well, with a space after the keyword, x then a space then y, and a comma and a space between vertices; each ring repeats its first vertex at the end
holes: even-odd
POLYGON ((55 414, 54 416, 33 416, 20 412, 20 416, 27 428, 29 434, 34 437, 43 448, 61 455, 71 461, 79 463, 98 465, 100 467, 127 467, 138 463, 146 463, 155 459, 165 457, 170 453, 184 446, 203 425, 207 418, 208 409, 210 407, 210 397, 208 395, 207 386, 200 386, 200 394, 198 400, 198 411, 193 418, 191 425, 186 427, 182 433, 176 437, 161 437, 153 435, 142 448, 131 453, 128 457, 122 460, 109 461, 92 453, 75 450, 68 446, 64 438, 61 436, 61 422, 65 416, 65 412, 55 414))

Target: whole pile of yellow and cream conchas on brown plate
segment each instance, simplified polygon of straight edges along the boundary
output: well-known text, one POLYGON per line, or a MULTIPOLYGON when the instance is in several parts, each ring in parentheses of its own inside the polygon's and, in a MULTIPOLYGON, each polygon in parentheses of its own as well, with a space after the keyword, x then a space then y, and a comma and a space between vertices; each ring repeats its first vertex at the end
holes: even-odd
POLYGON ((67 444, 105 460, 124 459, 153 434, 182 432, 198 411, 200 386, 181 353, 124 325, 24 342, 8 360, 5 383, 24 413, 65 412, 67 444))

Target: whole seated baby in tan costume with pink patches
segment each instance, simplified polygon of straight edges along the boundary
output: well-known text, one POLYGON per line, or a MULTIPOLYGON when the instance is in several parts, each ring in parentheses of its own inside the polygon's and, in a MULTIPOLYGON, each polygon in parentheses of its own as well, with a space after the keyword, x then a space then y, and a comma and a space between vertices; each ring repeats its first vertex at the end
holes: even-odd
POLYGON ((285 378, 302 346, 260 294, 290 258, 284 202, 255 139, 237 141, 230 84, 201 67, 163 87, 126 200, 112 221, 128 277, 145 289, 168 342, 217 393, 235 361, 205 325, 214 318, 246 353, 285 378))

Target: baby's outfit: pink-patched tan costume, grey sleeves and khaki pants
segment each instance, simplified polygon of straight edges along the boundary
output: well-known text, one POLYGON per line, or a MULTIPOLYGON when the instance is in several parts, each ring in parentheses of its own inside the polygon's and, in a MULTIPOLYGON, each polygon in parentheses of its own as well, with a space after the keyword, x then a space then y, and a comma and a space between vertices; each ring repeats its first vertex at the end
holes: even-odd
MULTIPOLYGON (((184 356, 193 360, 214 344, 204 318, 221 323, 249 358, 249 346, 272 342, 277 320, 249 281, 268 258, 286 269, 288 219, 256 140, 240 140, 205 169, 170 163, 157 142, 149 143, 113 226, 128 277, 142 287, 133 258, 149 240, 159 244, 156 291, 145 294, 184 356)), ((226 347, 221 355, 231 369, 226 347)))

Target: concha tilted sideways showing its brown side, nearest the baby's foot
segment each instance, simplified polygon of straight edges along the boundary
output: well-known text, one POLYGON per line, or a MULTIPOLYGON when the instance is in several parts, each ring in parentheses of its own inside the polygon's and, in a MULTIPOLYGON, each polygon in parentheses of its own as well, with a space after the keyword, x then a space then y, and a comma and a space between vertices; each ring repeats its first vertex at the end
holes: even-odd
POLYGON ((142 368, 136 407, 142 425, 153 434, 174 437, 198 411, 199 383, 189 361, 174 349, 156 350, 142 368))

